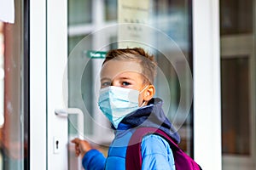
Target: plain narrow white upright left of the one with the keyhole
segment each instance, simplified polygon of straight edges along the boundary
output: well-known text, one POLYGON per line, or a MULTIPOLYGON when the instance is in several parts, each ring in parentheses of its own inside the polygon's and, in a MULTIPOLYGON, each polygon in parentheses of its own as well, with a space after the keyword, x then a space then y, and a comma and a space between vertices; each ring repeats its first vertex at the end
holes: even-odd
POLYGON ((30 1, 30 168, 47 169, 46 0, 30 1))

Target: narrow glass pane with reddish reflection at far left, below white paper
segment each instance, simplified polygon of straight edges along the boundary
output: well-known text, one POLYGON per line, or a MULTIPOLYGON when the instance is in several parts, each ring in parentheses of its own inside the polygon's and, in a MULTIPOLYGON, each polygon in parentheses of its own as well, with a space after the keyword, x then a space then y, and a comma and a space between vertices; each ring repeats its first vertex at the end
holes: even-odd
POLYGON ((15 1, 15 24, 0 22, 0 169, 4 170, 28 168, 23 3, 15 1))

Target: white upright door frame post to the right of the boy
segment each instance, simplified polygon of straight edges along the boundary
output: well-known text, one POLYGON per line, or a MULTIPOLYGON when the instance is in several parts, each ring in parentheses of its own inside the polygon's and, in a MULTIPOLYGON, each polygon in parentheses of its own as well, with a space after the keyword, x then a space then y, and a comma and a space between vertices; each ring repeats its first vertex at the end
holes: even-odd
POLYGON ((218 0, 193 0, 194 149, 202 169, 221 169, 218 0))

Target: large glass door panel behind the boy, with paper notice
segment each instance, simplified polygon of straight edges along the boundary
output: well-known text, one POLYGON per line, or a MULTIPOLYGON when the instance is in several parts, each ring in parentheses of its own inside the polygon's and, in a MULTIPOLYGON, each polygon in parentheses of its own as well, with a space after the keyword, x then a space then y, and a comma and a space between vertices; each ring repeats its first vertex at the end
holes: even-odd
MULTIPOLYGON (((113 130, 97 106, 104 53, 113 48, 143 47, 158 62, 156 97, 164 100, 166 116, 180 133, 180 146, 194 156, 191 3, 68 0, 67 4, 67 105, 79 109, 84 122, 81 126, 78 115, 69 115, 68 138, 82 132, 82 138, 107 156, 113 130)), ((77 162, 71 144, 69 167, 77 162)))

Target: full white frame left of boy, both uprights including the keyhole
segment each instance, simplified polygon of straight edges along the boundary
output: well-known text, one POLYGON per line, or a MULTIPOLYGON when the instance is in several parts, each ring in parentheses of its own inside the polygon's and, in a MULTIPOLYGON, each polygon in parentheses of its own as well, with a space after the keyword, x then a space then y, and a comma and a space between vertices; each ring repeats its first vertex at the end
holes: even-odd
POLYGON ((67 1, 30 1, 30 167, 67 169, 67 1), (65 81, 64 81, 65 82, 65 81), (58 150, 54 149, 55 139, 58 150))

